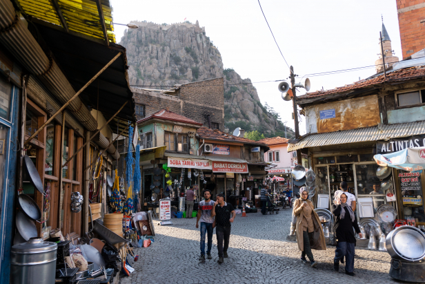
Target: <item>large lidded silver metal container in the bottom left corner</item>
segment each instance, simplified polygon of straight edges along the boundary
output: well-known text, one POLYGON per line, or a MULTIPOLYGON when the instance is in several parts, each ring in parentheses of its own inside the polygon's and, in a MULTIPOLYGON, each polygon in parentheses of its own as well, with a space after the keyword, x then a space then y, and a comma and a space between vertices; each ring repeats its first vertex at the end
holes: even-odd
POLYGON ((57 243, 31 238, 11 249, 10 278, 13 283, 54 284, 56 278, 57 243))

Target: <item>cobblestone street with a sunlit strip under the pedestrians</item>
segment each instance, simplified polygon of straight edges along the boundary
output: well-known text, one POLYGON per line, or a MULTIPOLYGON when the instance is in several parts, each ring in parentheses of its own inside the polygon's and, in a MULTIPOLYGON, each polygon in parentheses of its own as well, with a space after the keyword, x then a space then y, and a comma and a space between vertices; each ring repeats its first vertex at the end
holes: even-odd
POLYGON ((229 258, 217 263, 217 240, 213 236, 213 259, 199 263, 199 229, 196 219, 172 219, 174 225, 157 226, 155 243, 137 249, 135 272, 123 276, 127 283, 400 283, 388 276, 391 258, 386 252, 356 249, 355 276, 333 270, 335 247, 315 251, 317 267, 304 265, 297 243, 286 241, 291 209, 277 215, 237 215, 232 225, 229 258))

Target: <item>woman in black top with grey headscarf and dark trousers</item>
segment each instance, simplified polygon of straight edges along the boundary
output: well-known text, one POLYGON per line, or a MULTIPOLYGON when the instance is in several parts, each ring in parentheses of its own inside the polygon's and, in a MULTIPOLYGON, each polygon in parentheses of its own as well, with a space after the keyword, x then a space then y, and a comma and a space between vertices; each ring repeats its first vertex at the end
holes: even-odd
POLYGON ((345 272, 350 276, 354 276, 354 247, 355 236, 353 228, 362 238, 357 218, 355 218, 353 209, 347 205, 347 196, 345 192, 339 193, 341 204, 332 205, 331 211, 335 216, 333 229, 337 234, 337 249, 335 249, 335 258, 333 259, 333 267, 335 271, 339 271, 339 261, 346 258, 345 272))

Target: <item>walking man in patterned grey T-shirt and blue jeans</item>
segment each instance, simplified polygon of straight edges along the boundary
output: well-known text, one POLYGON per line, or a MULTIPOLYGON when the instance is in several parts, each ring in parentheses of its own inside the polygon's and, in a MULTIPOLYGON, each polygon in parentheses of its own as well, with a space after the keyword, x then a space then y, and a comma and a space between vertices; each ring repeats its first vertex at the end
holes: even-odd
POLYGON ((199 220, 201 220, 201 256, 199 256, 199 261, 205 261, 205 235, 208 234, 208 247, 206 254, 208 259, 213 258, 211 256, 211 246, 213 245, 213 222, 214 216, 211 214, 214 201, 211 200, 211 191, 209 189, 204 190, 204 198, 199 202, 198 205, 198 216, 196 220, 196 227, 199 228, 199 220))

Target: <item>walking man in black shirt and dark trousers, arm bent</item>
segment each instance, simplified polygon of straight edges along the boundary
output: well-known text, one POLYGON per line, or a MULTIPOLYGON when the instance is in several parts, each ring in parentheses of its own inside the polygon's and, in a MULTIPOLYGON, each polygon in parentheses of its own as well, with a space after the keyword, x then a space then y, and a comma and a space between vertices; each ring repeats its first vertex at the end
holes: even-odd
POLYGON ((223 263, 224 258, 228 257, 227 249, 229 247, 230 228, 235 220, 236 212, 230 203, 224 202, 224 195, 217 194, 217 200, 214 203, 211 216, 215 216, 214 225, 217 235, 217 248, 219 249, 218 263, 223 263), (224 247, 223 247, 224 240, 224 247))

